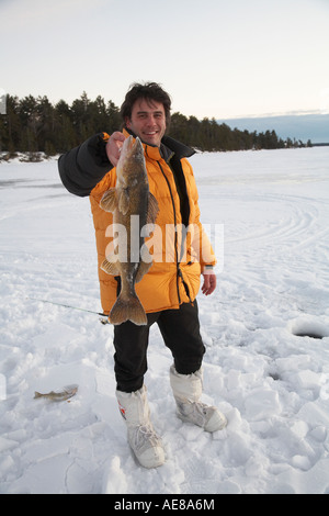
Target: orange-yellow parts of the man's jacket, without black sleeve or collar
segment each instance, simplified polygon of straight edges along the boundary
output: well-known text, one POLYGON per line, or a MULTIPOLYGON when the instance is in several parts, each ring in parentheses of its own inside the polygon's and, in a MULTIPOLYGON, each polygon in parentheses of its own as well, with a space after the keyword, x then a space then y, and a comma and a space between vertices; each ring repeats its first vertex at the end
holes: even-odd
MULTIPOLYGON (((124 134, 128 135, 125 131, 124 134)), ((104 138, 106 137, 109 136, 104 134, 104 138)), ((216 259, 200 223, 198 197, 190 162, 186 158, 179 160, 182 173, 178 181, 169 165, 172 157, 166 160, 158 147, 144 144, 144 149, 149 190, 159 204, 155 232, 146 239, 154 263, 149 272, 136 284, 137 295, 145 311, 149 313, 178 309, 181 303, 193 302, 200 289, 200 276, 204 266, 215 265, 216 259)), ((112 213, 102 210, 99 203, 104 192, 115 187, 115 182, 116 173, 113 168, 90 193, 101 302, 105 314, 110 313, 115 302, 118 283, 113 276, 106 274, 100 268, 105 258, 106 246, 112 239, 106 236, 106 229, 113 217, 112 213)))

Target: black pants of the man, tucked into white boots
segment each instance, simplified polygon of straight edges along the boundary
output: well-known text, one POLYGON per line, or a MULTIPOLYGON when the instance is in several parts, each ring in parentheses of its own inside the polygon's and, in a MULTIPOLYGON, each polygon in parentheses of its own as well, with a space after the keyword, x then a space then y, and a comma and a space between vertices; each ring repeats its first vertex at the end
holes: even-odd
POLYGON ((129 321, 114 326, 114 371, 118 391, 141 388, 147 371, 149 328, 157 323, 166 346, 171 350, 175 370, 191 374, 201 368, 205 347, 200 335, 197 303, 184 303, 179 310, 147 314, 148 324, 129 321))

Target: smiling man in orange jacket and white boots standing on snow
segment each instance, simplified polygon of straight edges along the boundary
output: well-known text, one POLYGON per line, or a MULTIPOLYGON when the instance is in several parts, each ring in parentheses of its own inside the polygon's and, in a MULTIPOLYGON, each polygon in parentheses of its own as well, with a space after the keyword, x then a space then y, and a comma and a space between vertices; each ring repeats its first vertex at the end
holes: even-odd
MULTIPOLYGON (((196 186, 186 159, 194 152, 164 136, 170 106, 170 97, 159 85, 134 85, 121 108, 123 132, 115 132, 111 137, 105 133, 94 135, 61 156, 58 164, 64 186, 77 195, 90 195, 99 266, 109 245, 106 228, 113 222, 112 214, 100 207, 100 201, 105 191, 115 187, 120 150, 129 134, 138 136, 144 146, 149 190, 159 205, 156 224, 163 234, 168 227, 173 228, 171 237, 166 237, 163 256, 154 257, 157 259, 149 272, 136 285, 148 324, 137 326, 127 321, 114 326, 116 396, 126 420, 128 442, 145 468, 164 462, 161 439, 150 422, 144 384, 149 328, 154 323, 158 324, 173 356, 170 384, 178 416, 211 433, 226 425, 225 416, 217 408, 198 401, 205 348, 195 298, 201 273, 202 292, 209 295, 215 290, 216 259, 200 223, 196 186), (188 226, 198 231, 191 236, 184 231, 188 226)), ((102 306, 107 314, 120 291, 120 278, 106 274, 100 267, 99 277, 102 306)))

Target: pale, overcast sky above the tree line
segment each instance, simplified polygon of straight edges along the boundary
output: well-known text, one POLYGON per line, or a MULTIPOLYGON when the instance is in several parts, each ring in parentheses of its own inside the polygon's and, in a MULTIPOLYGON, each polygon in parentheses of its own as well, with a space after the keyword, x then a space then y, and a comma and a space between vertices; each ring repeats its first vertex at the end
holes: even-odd
POLYGON ((0 0, 0 91, 121 105, 156 81, 198 119, 329 112, 329 0, 0 0))

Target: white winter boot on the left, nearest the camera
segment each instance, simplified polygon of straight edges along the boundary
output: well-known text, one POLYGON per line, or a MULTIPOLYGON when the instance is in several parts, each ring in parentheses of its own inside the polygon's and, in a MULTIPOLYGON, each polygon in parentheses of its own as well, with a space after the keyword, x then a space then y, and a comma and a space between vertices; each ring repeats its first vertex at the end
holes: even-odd
POLYGON ((160 437, 149 418, 146 386, 127 393, 116 391, 118 407, 126 420, 128 442, 144 468, 157 468, 164 462, 164 451, 160 437))

